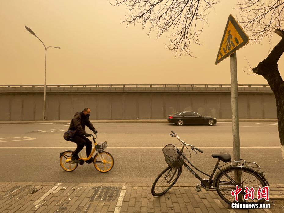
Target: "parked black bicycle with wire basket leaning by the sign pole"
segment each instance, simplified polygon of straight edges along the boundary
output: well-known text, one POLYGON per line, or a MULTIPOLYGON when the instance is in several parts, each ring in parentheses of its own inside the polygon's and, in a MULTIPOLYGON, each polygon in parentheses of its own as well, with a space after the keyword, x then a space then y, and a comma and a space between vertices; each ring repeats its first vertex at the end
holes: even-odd
MULTIPOLYGON (((197 191, 201 191, 201 188, 208 191, 216 190, 218 195, 228 204, 235 203, 235 196, 232 196, 231 192, 236 189, 236 186, 242 188, 242 191, 238 196, 238 202, 247 202, 248 200, 245 200, 243 196, 245 187, 248 187, 249 189, 253 188, 255 190, 254 197, 257 198, 258 187, 269 185, 268 181, 264 177, 264 172, 261 171, 260 166, 258 166, 257 163, 246 162, 245 160, 231 161, 231 155, 226 152, 211 155, 213 158, 217 158, 218 160, 212 174, 206 174, 196 168, 189 159, 186 158, 186 155, 183 152, 184 147, 187 149, 189 147, 194 152, 197 150, 203 153, 203 151, 182 141, 175 132, 172 131, 172 133, 173 134, 169 135, 177 138, 183 146, 181 150, 172 144, 166 145, 163 148, 168 167, 165 168, 155 179, 151 190, 153 196, 161 196, 162 194, 165 194, 177 182, 177 179, 181 175, 182 166, 185 166, 200 181, 201 184, 196 185, 197 191), (220 161, 223 161, 226 164, 219 166, 220 161), (189 163, 189 165, 187 163, 189 163), (208 179, 202 179, 190 166, 206 175, 208 179), (219 171, 213 179, 217 169, 219 171)), ((188 149, 188 151, 190 151, 190 149, 188 149)), ((260 200, 250 200, 250 202, 255 203, 263 203, 264 201, 264 198, 260 200)))

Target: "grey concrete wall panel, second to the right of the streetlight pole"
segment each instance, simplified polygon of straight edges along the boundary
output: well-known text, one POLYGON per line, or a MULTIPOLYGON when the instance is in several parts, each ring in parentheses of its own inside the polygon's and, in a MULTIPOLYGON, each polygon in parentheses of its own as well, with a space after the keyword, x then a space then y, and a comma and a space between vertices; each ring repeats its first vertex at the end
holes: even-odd
POLYGON ((71 120, 73 118, 72 113, 72 95, 61 94, 59 95, 59 119, 60 120, 71 120))

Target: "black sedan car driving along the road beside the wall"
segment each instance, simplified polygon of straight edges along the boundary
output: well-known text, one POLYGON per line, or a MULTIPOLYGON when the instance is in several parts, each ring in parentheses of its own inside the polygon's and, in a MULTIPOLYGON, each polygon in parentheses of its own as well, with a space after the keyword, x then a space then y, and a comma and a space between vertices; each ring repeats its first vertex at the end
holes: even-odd
POLYGON ((168 115, 168 122, 175 123, 178 126, 184 124, 207 124, 214 125, 217 119, 211 116, 202 116, 196 112, 176 112, 173 115, 168 115))

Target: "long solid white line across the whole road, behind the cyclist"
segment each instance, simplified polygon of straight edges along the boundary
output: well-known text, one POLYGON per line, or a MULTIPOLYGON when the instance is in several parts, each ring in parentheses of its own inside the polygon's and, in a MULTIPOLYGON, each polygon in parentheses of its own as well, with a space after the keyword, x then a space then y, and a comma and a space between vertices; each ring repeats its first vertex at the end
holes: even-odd
MULTIPOLYGON (((177 146, 179 148, 179 146, 177 146)), ((181 146, 180 146, 181 147, 181 146)), ((61 147, 37 147, 37 146, 0 146, 1 148, 6 149, 76 149, 75 146, 61 146, 61 147)), ((164 146, 121 146, 121 147, 107 147, 108 149, 162 149, 164 146)), ((232 146, 198 146, 200 149, 232 149, 232 146)), ((241 146, 243 149, 263 149, 263 148, 280 148, 280 146, 241 146)))

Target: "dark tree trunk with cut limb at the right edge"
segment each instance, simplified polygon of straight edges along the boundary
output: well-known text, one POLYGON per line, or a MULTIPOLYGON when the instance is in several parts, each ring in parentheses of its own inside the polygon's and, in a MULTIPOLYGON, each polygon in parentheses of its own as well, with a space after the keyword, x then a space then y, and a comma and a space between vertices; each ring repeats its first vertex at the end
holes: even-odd
POLYGON ((253 72, 262 75, 275 95, 278 119, 278 132, 284 161, 284 81, 278 71, 277 62, 284 52, 284 38, 273 48, 268 57, 260 62, 253 72))

